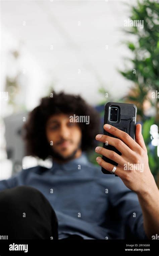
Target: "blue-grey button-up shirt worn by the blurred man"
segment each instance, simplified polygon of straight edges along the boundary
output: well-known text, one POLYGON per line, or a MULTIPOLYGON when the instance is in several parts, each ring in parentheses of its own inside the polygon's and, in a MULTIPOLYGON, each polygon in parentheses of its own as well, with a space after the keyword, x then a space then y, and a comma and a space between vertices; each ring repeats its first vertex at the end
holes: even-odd
POLYGON ((125 239, 147 236, 138 196, 119 177, 103 174, 83 153, 52 168, 36 166, 0 181, 0 191, 27 185, 40 190, 58 219, 59 239, 70 234, 84 239, 125 239))

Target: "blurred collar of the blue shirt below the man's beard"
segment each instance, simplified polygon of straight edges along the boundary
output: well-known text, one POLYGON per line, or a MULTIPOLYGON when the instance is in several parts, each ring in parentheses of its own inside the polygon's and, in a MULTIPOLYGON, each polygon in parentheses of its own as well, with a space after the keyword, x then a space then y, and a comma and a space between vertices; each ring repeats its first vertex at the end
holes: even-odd
POLYGON ((59 164, 55 160, 53 161, 51 170, 54 171, 56 169, 58 170, 64 170, 64 171, 71 171, 71 170, 80 170, 81 168, 78 168, 79 165, 86 165, 89 161, 87 159, 86 153, 82 153, 80 157, 74 158, 67 163, 59 164))

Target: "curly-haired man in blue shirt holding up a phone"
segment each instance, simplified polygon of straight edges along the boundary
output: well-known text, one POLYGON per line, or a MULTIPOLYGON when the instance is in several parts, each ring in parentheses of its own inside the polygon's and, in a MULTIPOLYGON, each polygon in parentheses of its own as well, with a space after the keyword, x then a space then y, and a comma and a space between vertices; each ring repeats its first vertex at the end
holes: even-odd
POLYGON ((24 139, 28 154, 51 157, 53 165, 22 170, 0 181, 1 235, 8 239, 152 239, 159 232, 159 192, 141 125, 136 126, 136 141, 113 126, 104 129, 119 139, 97 134, 98 128, 98 113, 80 96, 54 93, 41 100, 30 113, 24 139), (89 124, 70 122, 73 115, 89 117, 89 124), (88 161, 86 152, 94 147, 95 136, 122 153, 95 149, 115 159, 115 172, 101 157, 97 162, 118 177, 103 174, 100 166, 88 161), (125 170, 128 163, 142 164, 144 170, 125 170))

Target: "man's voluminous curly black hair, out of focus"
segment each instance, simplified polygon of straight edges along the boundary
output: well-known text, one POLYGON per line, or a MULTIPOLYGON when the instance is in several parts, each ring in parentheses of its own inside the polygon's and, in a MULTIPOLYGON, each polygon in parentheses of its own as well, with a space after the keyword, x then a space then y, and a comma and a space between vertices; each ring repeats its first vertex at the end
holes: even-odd
MULTIPOLYGON (((92 149, 95 145, 95 136, 100 129, 100 115, 80 95, 52 92, 53 97, 44 97, 40 105, 29 114, 23 126, 23 139, 26 145, 26 155, 36 156, 43 160, 52 156, 52 148, 46 138, 46 122, 54 114, 75 114, 89 116, 90 123, 79 123, 82 129, 82 151, 92 149)), ((51 95, 51 94, 50 94, 51 95)))

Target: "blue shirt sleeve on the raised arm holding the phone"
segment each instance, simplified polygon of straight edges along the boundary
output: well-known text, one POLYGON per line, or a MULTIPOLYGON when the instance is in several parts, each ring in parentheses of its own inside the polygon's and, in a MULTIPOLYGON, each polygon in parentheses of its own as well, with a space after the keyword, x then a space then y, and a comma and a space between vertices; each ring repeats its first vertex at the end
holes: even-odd
POLYGON ((116 181, 110 188, 110 202, 121 219, 124 239, 148 239, 137 194, 128 189, 119 177, 114 178, 116 181))

